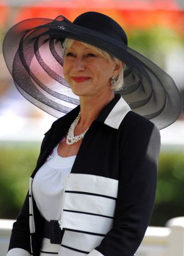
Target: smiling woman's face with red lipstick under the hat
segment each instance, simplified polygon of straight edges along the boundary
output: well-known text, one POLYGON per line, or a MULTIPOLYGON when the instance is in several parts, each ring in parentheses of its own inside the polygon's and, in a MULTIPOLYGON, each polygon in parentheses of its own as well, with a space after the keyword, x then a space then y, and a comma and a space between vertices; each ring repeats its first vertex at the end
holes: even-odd
POLYGON ((93 96, 110 89, 110 77, 116 76, 115 61, 109 62, 96 51, 74 41, 64 54, 64 78, 78 96, 93 96))

